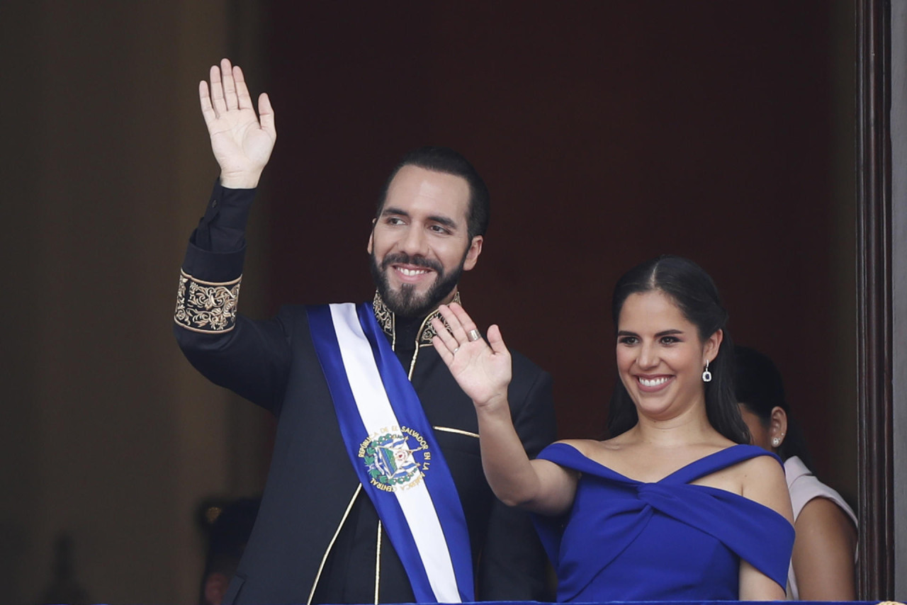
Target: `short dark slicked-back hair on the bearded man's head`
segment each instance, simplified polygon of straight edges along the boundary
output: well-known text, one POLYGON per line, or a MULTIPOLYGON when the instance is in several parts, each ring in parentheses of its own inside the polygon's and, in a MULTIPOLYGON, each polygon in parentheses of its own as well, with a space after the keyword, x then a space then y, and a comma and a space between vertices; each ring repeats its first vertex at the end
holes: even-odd
POLYGON ((469 233, 469 239, 472 240, 477 235, 485 234, 491 215, 491 200, 488 188, 485 186, 485 181, 483 181, 478 171, 473 168, 473 164, 460 153, 448 147, 426 146, 406 153, 396 165, 394 171, 391 172, 387 182, 385 182, 385 189, 381 192, 381 197, 378 199, 378 208, 375 212, 376 218, 381 218, 381 211, 384 210, 385 200, 387 200, 387 190, 391 186, 391 181, 394 181, 397 172, 404 166, 416 166, 424 168, 426 171, 444 172, 445 174, 453 174, 453 176, 465 179, 469 184, 469 211, 466 215, 466 229, 469 233))

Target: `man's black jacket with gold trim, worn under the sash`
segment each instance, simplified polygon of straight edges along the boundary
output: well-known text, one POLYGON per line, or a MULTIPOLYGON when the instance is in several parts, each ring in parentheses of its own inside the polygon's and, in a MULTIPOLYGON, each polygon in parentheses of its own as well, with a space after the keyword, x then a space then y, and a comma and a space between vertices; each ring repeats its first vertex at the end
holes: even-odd
MULTIPOLYGON (((215 188, 217 203, 209 203, 183 262, 174 327, 204 376, 278 418, 258 519, 226 602, 412 602, 403 566, 359 489, 305 307, 282 307, 264 321, 237 313, 241 234, 225 231, 232 242, 224 246, 217 241, 222 234, 211 233, 220 212, 242 215, 241 204, 248 207, 253 195, 215 188)), ((431 345, 428 318, 402 329, 380 298, 373 306, 453 475, 469 528, 476 599, 547 600, 545 557, 532 523, 499 502, 485 481, 473 403, 431 345)), ((519 353, 512 358, 512 418, 534 456, 555 436, 551 377, 519 353)))

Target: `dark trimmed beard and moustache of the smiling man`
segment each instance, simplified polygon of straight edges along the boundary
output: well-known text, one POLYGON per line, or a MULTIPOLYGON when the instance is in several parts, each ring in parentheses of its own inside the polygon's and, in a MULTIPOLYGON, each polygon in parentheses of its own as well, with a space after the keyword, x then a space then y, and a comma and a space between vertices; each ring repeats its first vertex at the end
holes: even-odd
POLYGON ((379 267, 378 259, 375 259, 374 250, 371 256, 372 261, 369 266, 372 270, 375 286, 378 288, 378 294, 385 301, 387 308, 401 317, 424 317, 434 311, 434 308, 453 292, 453 288, 460 281, 460 276, 463 274, 463 263, 466 262, 466 255, 463 254, 460 264, 448 275, 444 273, 444 267, 441 266, 441 263, 436 260, 425 259, 424 257, 411 257, 402 252, 388 254, 381 261, 381 266, 379 267), (393 263, 430 268, 437 277, 434 278, 434 284, 421 295, 416 294, 412 284, 404 284, 400 289, 392 290, 390 281, 387 278, 387 268, 393 263))

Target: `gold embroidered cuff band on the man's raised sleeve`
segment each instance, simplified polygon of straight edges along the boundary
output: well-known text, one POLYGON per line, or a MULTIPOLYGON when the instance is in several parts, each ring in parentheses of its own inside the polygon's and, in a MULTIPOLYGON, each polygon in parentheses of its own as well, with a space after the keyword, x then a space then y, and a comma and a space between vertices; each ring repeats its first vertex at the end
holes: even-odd
POLYGON ((173 321, 193 332, 229 332, 236 325, 242 276, 224 283, 193 278, 180 270, 173 321))

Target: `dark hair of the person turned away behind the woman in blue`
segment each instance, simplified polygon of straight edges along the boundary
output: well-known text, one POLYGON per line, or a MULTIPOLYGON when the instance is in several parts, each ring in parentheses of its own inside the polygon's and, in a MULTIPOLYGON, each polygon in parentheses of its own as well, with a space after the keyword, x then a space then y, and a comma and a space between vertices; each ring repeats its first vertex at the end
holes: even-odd
POLYGON ((813 461, 806 449, 806 442, 800 428, 791 418, 790 407, 785 397, 785 383, 778 368, 768 356, 748 346, 734 347, 734 391, 737 403, 756 415, 766 428, 772 421, 772 410, 780 407, 787 415, 787 434, 778 447, 778 456, 787 460, 798 456, 807 467, 813 461))

